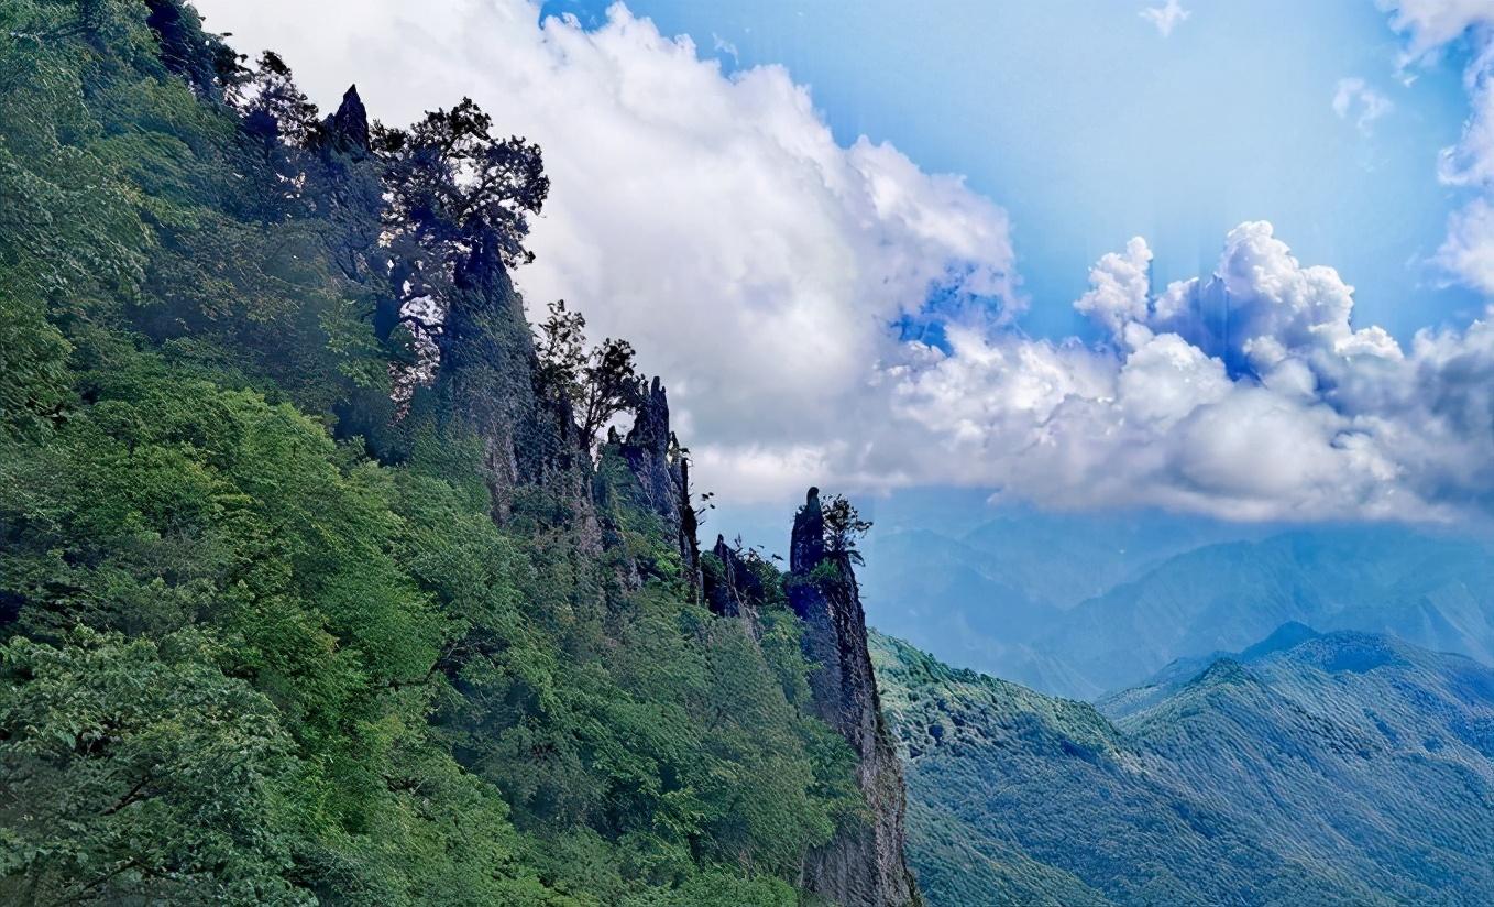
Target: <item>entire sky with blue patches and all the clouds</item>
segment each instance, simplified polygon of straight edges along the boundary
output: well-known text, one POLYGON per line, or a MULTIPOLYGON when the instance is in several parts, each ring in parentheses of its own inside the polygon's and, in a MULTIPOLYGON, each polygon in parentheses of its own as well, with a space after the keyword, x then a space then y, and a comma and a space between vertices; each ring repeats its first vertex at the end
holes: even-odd
POLYGON ((719 501, 1487 511, 1494 0, 1162 3, 200 0, 318 103, 539 142, 515 284, 719 501))

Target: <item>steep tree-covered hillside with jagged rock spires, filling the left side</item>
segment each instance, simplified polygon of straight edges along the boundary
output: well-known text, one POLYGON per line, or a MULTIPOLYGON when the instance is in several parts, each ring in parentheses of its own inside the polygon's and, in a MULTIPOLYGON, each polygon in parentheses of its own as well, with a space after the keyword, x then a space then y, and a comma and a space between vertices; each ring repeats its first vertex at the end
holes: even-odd
POLYGON ((0 903, 917 903, 855 511, 699 551, 453 102, 0 1, 0 903))

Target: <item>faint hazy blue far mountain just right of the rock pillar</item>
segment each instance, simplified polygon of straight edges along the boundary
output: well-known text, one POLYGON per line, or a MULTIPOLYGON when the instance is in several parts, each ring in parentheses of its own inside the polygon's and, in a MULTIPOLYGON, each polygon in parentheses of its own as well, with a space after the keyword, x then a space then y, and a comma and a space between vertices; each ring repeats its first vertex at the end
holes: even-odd
POLYGON ((980 493, 901 492, 864 545, 867 607, 886 632, 1038 689, 1088 689, 1061 647, 1062 613, 1168 556, 1255 527, 1167 514, 1053 514, 974 507, 980 493), (950 516, 935 511, 944 508, 950 516), (1062 568, 1055 568, 1062 565, 1062 568))

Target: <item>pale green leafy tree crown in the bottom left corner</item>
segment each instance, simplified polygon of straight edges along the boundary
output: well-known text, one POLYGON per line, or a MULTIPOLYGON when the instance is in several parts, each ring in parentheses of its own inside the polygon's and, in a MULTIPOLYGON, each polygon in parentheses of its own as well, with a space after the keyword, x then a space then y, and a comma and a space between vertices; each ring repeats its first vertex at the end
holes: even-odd
POLYGON ((0 647, 0 900, 309 901, 282 877, 291 740, 220 654, 191 629, 0 647))

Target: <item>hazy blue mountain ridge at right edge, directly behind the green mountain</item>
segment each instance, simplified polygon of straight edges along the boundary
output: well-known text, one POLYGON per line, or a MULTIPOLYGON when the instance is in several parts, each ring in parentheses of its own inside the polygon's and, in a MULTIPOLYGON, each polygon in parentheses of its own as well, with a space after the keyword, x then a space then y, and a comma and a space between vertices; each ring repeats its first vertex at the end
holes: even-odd
POLYGON ((1074 607, 1029 644, 1085 698, 1177 657, 1237 650, 1300 622, 1391 634, 1494 663, 1494 553, 1401 526, 1324 527, 1206 545, 1074 607))

